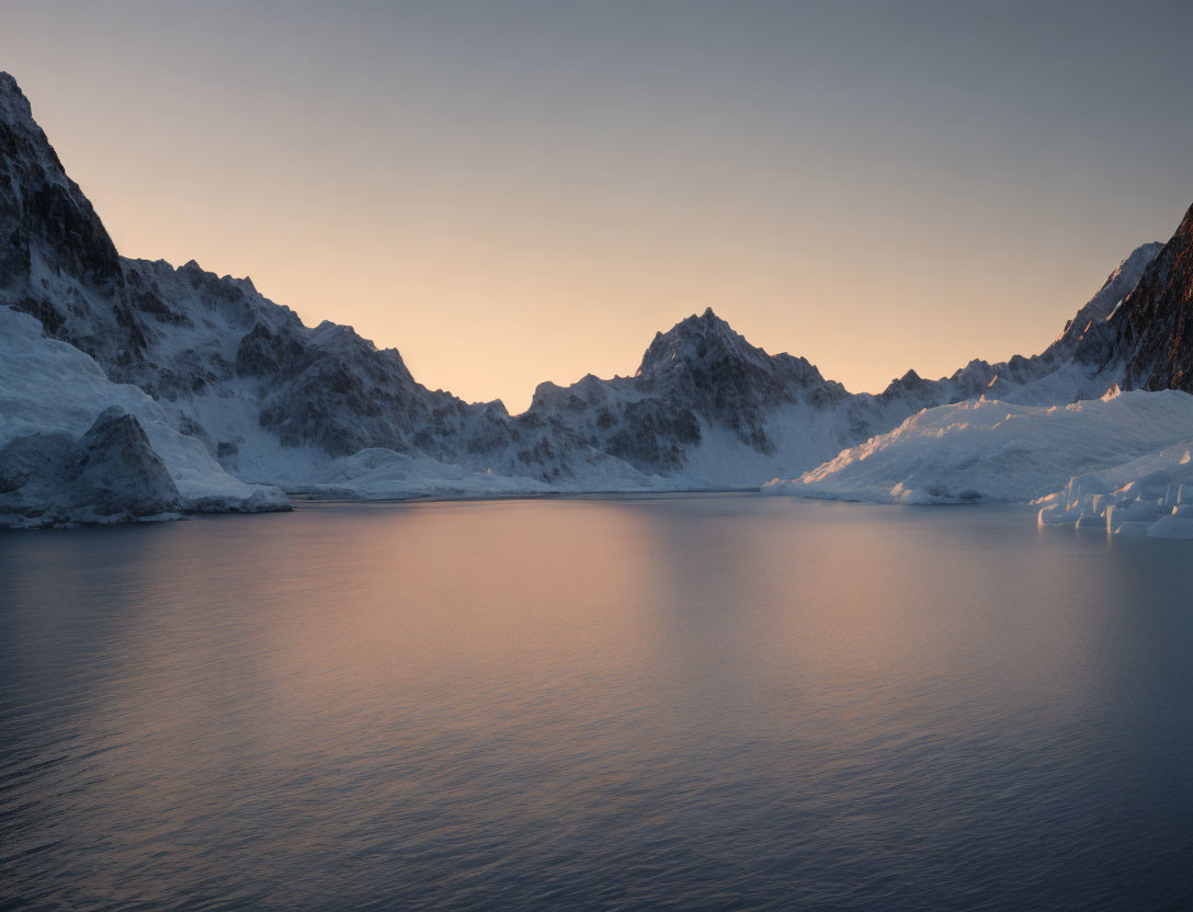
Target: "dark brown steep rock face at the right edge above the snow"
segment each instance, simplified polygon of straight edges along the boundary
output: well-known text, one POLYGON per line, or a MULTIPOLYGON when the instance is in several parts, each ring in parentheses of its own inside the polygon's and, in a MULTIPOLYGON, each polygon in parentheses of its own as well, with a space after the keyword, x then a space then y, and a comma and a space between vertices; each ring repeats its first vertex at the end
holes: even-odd
POLYGON ((1193 392, 1193 207, 1111 321, 1124 385, 1193 392))

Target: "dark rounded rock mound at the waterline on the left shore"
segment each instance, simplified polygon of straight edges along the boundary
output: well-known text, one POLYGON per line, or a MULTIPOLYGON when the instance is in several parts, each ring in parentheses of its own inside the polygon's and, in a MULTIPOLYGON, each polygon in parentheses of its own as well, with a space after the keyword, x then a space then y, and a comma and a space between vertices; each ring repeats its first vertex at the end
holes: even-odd
POLYGON ((81 438, 32 434, 0 448, 0 525, 125 522, 180 509, 166 465, 119 408, 81 438))

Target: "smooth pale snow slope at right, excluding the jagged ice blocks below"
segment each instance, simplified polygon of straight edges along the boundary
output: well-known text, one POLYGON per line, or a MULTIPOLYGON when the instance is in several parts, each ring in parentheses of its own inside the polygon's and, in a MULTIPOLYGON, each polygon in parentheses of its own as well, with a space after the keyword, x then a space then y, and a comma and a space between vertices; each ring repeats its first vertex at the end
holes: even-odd
POLYGON ((1026 503, 1193 439, 1193 396, 1107 393, 1070 405, 971 399, 925 409, 889 434, 766 494, 873 503, 1026 503))

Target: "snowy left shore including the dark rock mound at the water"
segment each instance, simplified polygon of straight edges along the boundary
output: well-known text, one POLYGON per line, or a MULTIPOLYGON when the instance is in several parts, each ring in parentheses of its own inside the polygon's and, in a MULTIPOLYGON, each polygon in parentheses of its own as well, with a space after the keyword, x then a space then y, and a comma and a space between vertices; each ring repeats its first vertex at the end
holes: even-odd
POLYGON ((279 488, 228 474, 138 387, 110 381, 37 319, 0 308, 0 526, 289 508, 279 488), (111 421, 119 416, 130 421, 111 421))

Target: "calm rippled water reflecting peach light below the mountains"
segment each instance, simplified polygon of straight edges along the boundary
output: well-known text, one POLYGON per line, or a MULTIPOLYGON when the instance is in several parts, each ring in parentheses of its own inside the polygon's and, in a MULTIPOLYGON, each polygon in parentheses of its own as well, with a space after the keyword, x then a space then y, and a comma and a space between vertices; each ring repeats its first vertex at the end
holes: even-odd
POLYGON ((1193 908, 1193 545, 759 496, 0 534, 0 907, 1193 908))

